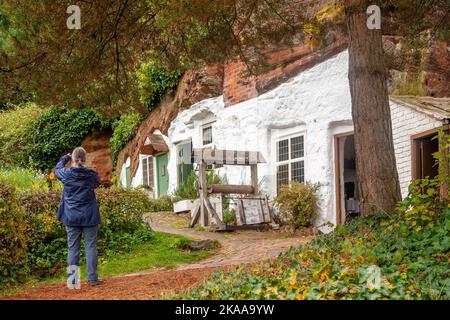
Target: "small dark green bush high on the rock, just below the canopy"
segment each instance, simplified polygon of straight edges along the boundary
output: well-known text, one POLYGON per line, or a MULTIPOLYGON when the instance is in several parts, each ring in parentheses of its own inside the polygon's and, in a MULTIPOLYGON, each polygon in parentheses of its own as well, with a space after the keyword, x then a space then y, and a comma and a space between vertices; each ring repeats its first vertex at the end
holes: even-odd
POLYGON ((141 100, 148 111, 152 111, 156 107, 168 90, 177 87, 181 75, 181 70, 169 72, 153 61, 142 66, 140 70, 141 100))

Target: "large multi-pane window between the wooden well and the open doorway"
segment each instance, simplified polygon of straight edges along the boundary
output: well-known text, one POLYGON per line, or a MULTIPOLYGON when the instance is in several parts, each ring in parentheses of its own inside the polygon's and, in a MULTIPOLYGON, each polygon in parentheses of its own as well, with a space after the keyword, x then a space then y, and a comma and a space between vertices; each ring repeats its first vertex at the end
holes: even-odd
POLYGON ((277 193, 290 181, 305 181, 304 136, 277 141, 277 193))

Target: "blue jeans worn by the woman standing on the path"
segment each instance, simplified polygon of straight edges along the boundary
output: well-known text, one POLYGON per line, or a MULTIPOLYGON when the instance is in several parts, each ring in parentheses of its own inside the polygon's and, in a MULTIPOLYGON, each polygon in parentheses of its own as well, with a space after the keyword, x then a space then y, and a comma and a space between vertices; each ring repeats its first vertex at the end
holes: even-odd
POLYGON ((68 266, 79 266, 81 234, 84 236, 84 249, 86 252, 87 279, 95 281, 98 279, 97 274, 97 233, 98 226, 93 227, 69 227, 67 230, 67 245, 69 253, 67 255, 68 266))

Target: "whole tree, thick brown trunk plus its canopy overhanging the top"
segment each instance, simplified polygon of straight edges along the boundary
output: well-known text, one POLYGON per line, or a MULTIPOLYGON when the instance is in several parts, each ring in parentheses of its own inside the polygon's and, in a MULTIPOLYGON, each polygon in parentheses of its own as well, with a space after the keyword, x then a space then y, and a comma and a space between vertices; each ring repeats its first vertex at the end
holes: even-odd
POLYGON ((448 37, 441 32, 448 21, 447 0, 3 0, 0 104, 35 100, 130 112, 142 108, 137 71, 149 61, 176 70, 239 58, 258 73, 267 50, 342 29, 362 209, 377 214, 401 198, 382 32, 417 45, 448 37), (66 26, 73 4, 81 8, 80 30, 66 26), (366 26, 372 4, 382 9, 382 31, 366 26))

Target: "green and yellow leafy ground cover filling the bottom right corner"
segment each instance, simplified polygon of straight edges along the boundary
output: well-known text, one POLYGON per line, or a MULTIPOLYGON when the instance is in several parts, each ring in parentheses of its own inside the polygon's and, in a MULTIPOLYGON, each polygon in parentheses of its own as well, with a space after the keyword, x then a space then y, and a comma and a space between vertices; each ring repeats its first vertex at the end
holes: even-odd
POLYGON ((450 209, 420 232, 400 215, 355 219, 279 259, 215 273, 182 298, 448 300, 449 226, 450 209))

